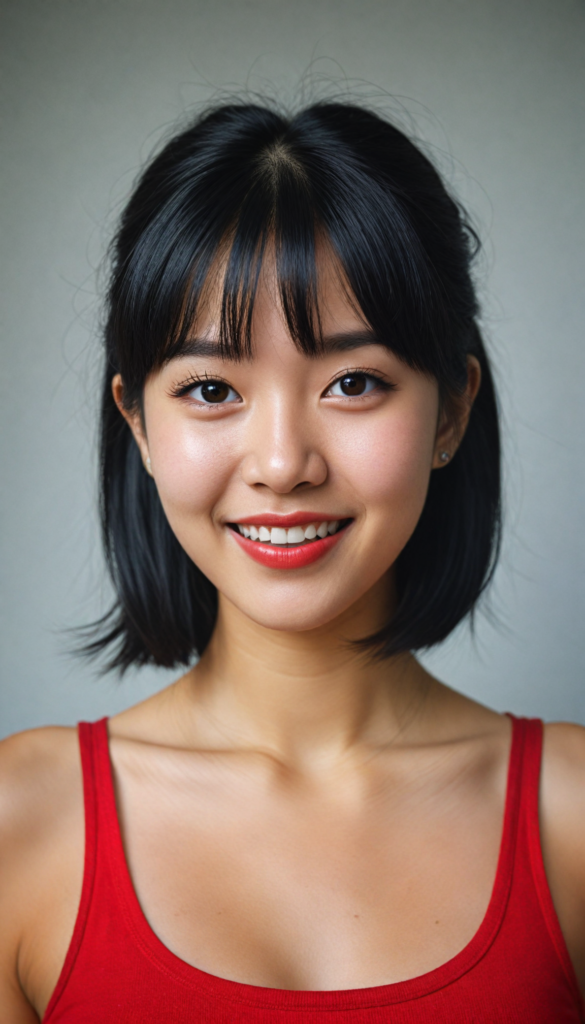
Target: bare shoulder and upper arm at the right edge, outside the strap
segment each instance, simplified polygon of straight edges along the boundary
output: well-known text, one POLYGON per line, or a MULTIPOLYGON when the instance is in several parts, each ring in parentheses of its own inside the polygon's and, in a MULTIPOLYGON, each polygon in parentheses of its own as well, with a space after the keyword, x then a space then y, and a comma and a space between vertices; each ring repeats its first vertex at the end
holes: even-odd
POLYGON ((550 892, 585 991, 585 728, 580 725, 545 727, 540 815, 550 892))

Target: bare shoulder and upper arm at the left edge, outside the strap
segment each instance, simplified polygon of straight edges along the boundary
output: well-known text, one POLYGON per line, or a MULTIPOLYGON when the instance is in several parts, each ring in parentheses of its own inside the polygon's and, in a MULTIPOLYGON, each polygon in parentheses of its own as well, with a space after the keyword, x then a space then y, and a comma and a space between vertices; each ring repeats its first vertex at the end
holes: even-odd
POLYGON ((0 1020, 39 1020, 56 983, 83 873, 83 794, 72 729, 0 742, 0 1020))

